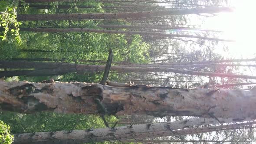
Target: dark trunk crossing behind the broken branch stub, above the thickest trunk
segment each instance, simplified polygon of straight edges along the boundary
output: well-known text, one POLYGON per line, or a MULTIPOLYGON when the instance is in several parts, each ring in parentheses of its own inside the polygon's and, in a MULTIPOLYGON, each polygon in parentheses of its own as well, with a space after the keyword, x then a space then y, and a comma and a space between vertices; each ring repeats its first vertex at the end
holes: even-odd
MULTIPOLYGON (((26 61, 0 61, 0 68, 8 69, 35 69, 21 71, 0 71, 0 77, 19 76, 21 73, 26 76, 43 76, 43 75, 63 75, 70 72, 101 72, 104 71, 105 65, 81 65, 62 62, 26 62, 26 61), (42 72, 40 72, 42 71, 42 72), (42 75, 41 75, 42 74, 42 75)), ((132 67, 129 65, 112 66, 113 71, 118 72, 173 72, 187 75, 202 75, 211 77, 242 78, 256 79, 251 75, 236 75, 226 73, 202 72, 184 69, 162 68, 162 67, 132 67)))

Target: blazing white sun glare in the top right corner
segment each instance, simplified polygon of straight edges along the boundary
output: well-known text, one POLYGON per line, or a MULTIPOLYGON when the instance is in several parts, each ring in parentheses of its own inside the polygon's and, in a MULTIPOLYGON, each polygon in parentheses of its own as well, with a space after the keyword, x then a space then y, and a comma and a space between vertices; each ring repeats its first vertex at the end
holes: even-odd
POLYGON ((206 20, 203 27, 224 31, 221 38, 235 40, 225 44, 234 56, 256 56, 256 0, 232 0, 232 6, 233 13, 218 13, 206 20))

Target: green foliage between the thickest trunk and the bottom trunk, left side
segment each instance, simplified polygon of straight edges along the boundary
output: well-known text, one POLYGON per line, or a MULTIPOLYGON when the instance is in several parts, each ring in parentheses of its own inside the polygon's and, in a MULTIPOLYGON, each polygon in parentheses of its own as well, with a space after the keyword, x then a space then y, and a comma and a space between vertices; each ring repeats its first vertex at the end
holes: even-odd
MULTIPOLYGON (((105 128, 102 118, 97 115, 69 115, 52 112, 41 112, 36 114, 1 112, 0 114, 1 120, 10 124, 12 133, 105 128)), ((106 120, 115 122, 116 118, 107 116, 106 120)))

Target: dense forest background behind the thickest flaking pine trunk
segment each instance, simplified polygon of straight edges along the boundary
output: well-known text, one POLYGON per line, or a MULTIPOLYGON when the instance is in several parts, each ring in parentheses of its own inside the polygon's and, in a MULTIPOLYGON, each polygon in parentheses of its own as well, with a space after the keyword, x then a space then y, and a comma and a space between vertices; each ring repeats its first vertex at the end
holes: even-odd
MULTIPOLYGON (((43 1, 0 1, 0 78, 6 82, 45 82, 54 79, 55 82, 97 83, 102 79, 109 49, 114 53, 113 69, 108 76, 108 81, 112 82, 188 89, 205 84, 212 88, 250 89, 253 86, 249 84, 255 82, 255 77, 243 75, 254 72, 255 58, 234 59, 235 56, 223 55, 220 49, 228 53, 227 43, 233 43, 233 39, 220 38, 223 32, 218 29, 200 28, 205 20, 216 16, 207 10, 202 14, 196 12, 192 15, 146 18, 22 20, 27 14, 126 13, 229 7, 232 6, 230 1, 43 1), (194 21, 200 21, 200 24, 194 25, 194 21), (58 66, 54 62, 64 64, 58 66), (69 64, 86 67, 71 69, 74 65, 69 64), (166 65, 172 65, 171 69, 166 65), (95 66, 102 66, 102 69, 93 70, 95 66)), ((116 126, 122 126, 187 118, 190 117, 124 115, 117 119, 115 116, 105 116, 110 126, 115 121, 118 121, 116 126)), ((10 125, 12 134, 105 128, 102 118, 97 115, 1 111, 0 120, 10 125)), ((254 140, 254 129, 245 128, 102 143, 249 144, 254 140)))

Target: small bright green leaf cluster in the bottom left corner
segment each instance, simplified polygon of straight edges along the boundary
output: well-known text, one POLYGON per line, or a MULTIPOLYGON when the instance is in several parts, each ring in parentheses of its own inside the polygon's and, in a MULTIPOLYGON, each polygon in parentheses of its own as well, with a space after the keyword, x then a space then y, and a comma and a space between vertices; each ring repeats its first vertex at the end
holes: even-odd
POLYGON ((10 134, 10 126, 0 121, 0 144, 11 144, 14 141, 10 134))

